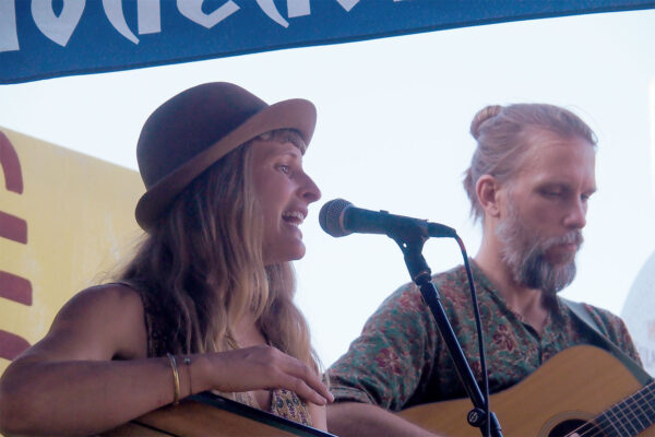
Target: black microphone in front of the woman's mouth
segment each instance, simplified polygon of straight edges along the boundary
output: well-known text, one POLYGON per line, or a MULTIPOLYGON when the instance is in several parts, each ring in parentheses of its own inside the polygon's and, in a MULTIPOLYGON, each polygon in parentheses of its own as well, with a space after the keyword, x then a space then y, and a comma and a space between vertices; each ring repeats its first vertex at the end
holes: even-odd
POLYGON ((452 227, 427 220, 390 214, 386 211, 370 211, 356 208, 344 199, 334 199, 321 208, 319 223, 333 237, 356 234, 385 234, 398 237, 456 237, 452 227))

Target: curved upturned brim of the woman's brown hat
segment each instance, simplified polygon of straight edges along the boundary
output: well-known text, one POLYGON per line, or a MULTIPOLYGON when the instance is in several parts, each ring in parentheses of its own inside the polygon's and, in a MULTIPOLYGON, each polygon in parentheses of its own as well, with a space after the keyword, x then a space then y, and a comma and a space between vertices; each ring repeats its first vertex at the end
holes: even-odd
POLYGON ((297 130, 305 143, 309 145, 315 122, 315 107, 311 102, 302 98, 278 102, 265 107, 151 187, 136 204, 136 223, 145 231, 152 227, 184 187, 239 145, 277 129, 297 130))

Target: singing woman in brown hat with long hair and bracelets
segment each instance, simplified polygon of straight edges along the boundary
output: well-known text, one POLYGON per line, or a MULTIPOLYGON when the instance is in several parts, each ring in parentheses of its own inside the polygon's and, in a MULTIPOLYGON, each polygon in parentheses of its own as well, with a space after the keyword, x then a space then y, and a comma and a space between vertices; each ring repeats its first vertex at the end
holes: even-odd
POLYGON ((0 432, 99 433, 205 390, 325 429, 332 394, 288 262, 320 198, 302 169, 314 123, 307 101, 269 106, 229 83, 155 110, 138 144, 146 238, 118 282, 74 296, 9 366, 0 432))

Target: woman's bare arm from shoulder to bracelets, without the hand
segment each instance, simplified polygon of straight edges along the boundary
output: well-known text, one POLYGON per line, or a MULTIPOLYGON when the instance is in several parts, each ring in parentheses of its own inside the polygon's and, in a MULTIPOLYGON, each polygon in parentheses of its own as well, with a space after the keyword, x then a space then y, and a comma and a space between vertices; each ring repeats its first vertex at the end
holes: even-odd
POLYGON ((48 334, 4 371, 0 430, 88 434, 170 402, 167 359, 145 357, 143 306, 135 292, 106 285, 78 294, 48 334))

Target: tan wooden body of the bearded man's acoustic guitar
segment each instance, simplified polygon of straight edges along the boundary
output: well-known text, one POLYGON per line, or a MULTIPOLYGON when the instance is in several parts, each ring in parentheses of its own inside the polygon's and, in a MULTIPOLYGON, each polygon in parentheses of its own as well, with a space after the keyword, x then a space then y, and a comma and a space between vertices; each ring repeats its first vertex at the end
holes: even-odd
MULTIPOLYGON (((557 354, 516 386, 491 395, 490 408, 505 437, 565 436, 641 388, 609 353, 575 346, 557 354)), ((463 399, 413 406, 398 414, 441 435, 479 437, 480 430, 466 422, 472 408, 471 401, 463 399)), ((655 403, 646 408, 653 412, 655 403)), ((614 430, 611 435, 633 434, 614 430)), ((655 427, 636 435, 654 437, 655 427)))

